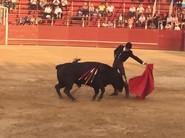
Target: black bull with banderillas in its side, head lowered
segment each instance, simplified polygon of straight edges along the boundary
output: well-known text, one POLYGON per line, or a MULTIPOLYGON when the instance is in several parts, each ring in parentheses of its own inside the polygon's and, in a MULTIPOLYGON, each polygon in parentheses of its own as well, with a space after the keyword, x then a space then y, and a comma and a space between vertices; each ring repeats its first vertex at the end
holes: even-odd
MULTIPOLYGON (((60 98, 62 97, 60 89, 64 88, 64 93, 72 100, 75 100, 70 93, 74 83, 79 87, 81 84, 92 87, 95 91, 93 100, 96 99, 99 90, 101 90, 101 94, 98 99, 102 99, 105 87, 109 84, 113 86, 114 93, 121 92, 124 86, 126 90, 126 85, 121 74, 116 69, 103 63, 72 62, 57 65, 56 69, 58 84, 55 85, 55 88, 60 98)), ((127 90, 126 95, 128 95, 127 90)))

